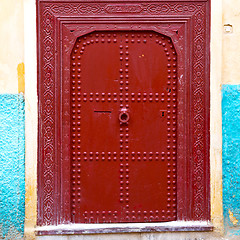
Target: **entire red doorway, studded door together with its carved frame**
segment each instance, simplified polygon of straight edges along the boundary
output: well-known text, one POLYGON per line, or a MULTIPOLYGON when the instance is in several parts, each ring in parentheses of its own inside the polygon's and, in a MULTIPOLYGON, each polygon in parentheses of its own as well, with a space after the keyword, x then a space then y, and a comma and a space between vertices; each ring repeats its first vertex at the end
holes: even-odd
POLYGON ((37 0, 37 29, 37 225, 210 221, 210 0, 37 0))

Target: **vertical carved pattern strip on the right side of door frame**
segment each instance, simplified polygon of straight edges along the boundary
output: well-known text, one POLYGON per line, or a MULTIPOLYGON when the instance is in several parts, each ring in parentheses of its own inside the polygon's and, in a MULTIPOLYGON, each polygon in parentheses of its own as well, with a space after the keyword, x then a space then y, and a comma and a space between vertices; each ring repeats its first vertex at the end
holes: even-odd
POLYGON ((203 7, 198 7, 198 11, 194 15, 194 60, 193 60, 193 214, 195 219, 203 219, 204 217, 204 155, 206 151, 205 129, 205 11, 203 7))

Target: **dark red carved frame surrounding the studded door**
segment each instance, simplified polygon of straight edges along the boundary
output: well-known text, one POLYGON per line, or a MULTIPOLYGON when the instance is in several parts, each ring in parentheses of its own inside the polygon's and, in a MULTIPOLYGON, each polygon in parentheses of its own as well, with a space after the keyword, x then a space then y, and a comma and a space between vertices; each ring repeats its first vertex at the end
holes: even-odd
MULTIPOLYGON (((152 30, 172 38, 178 67, 178 220, 210 220, 210 1, 37 0, 38 225, 70 222, 69 69, 77 37, 152 30), (64 166, 64 167, 63 167, 64 166)), ((199 229, 201 230, 201 229, 199 229)))

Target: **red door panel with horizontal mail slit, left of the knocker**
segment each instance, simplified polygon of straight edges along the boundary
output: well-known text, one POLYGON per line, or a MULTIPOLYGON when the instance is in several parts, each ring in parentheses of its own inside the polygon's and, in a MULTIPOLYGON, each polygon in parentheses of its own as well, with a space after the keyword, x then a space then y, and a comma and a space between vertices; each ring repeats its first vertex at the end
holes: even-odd
POLYGON ((81 151, 119 151, 119 121, 117 104, 85 103, 81 106, 81 151))

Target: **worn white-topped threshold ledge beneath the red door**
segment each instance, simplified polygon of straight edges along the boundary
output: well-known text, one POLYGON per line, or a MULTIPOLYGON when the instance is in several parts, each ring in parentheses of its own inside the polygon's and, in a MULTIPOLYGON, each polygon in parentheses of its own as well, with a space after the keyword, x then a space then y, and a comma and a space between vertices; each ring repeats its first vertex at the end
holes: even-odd
POLYGON ((198 232, 212 231, 208 221, 173 221, 164 223, 80 223, 36 227, 36 235, 74 235, 98 233, 198 232))

